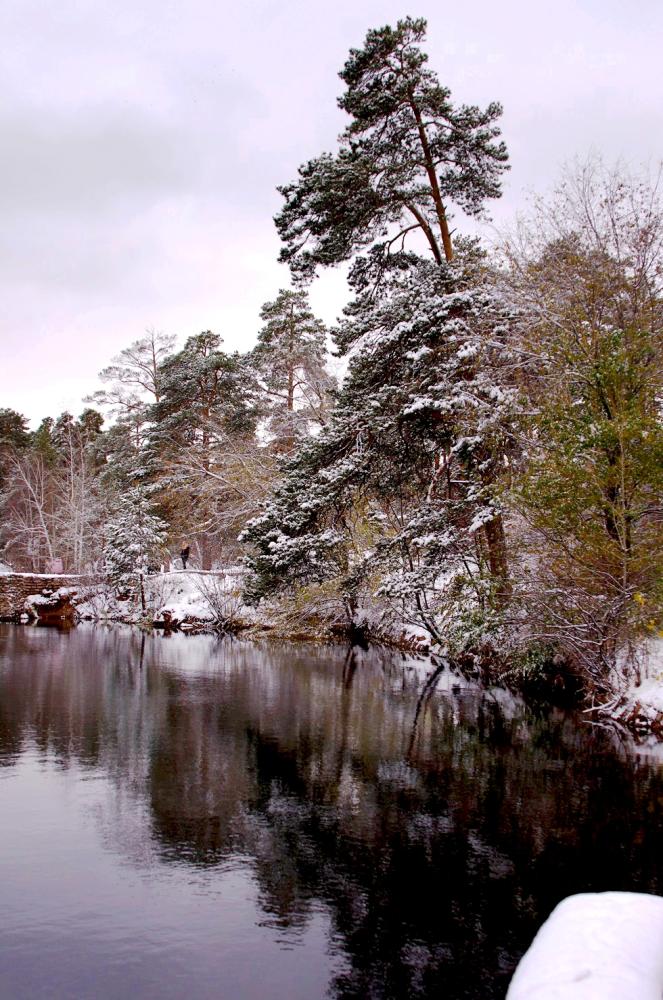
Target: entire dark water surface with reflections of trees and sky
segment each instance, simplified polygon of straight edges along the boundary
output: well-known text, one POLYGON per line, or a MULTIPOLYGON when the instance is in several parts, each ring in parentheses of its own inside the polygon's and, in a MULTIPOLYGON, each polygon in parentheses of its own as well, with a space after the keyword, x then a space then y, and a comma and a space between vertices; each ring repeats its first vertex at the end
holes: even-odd
POLYGON ((0 996, 503 997, 658 762, 394 654, 0 626, 0 996))

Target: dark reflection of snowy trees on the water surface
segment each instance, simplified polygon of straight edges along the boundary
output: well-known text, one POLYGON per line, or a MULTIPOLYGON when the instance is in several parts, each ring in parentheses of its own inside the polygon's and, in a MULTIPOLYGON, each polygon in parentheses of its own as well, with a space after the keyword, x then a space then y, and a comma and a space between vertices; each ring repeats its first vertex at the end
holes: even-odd
POLYGON ((11 626, 0 654, 0 762, 101 769, 115 851, 247 866, 276 934, 324 907, 334 997, 501 997, 563 896, 663 888, 655 764, 410 657, 11 626))

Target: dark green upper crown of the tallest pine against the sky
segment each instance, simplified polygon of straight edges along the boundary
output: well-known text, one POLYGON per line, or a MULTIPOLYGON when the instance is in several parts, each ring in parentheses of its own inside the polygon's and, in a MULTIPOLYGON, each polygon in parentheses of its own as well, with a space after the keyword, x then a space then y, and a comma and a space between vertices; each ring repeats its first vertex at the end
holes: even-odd
POLYGON ((339 106, 352 121, 336 155, 299 169, 279 190, 281 260, 304 278, 372 245, 377 270, 418 231, 437 263, 451 260, 449 204, 478 215, 499 197, 507 152, 499 104, 454 107, 420 49, 422 18, 369 31, 340 73, 339 106))

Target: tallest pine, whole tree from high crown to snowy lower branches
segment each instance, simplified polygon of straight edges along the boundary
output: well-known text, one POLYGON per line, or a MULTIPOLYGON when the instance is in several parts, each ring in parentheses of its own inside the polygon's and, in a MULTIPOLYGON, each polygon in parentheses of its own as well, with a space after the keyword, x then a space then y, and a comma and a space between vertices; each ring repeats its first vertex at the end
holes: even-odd
POLYGON ((368 252, 335 331, 348 356, 336 410, 244 537, 254 598, 336 576, 352 614, 373 574, 435 634, 454 587, 484 617, 507 596, 498 481, 517 400, 508 310, 475 249, 454 259, 449 231, 449 203, 478 214, 500 193, 501 109, 454 108, 424 32, 408 18, 368 33, 341 73, 352 122, 337 155, 281 189, 281 257, 296 275, 368 252), (415 231, 432 261, 405 250, 415 231))

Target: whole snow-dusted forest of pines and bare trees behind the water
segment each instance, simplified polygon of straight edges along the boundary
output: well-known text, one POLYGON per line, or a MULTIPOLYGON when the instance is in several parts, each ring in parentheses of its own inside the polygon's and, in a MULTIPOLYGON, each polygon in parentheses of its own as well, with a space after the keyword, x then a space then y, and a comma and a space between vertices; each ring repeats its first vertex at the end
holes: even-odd
POLYGON ((189 545, 266 616, 408 626, 607 698, 663 634, 657 184, 594 157, 507 234, 463 233, 500 197, 502 109, 452 99, 425 32, 350 51, 337 148, 279 189, 291 287, 251 349, 148 330, 80 416, 0 410, 0 558, 126 588, 189 545), (328 329, 308 289, 334 267, 328 329))

